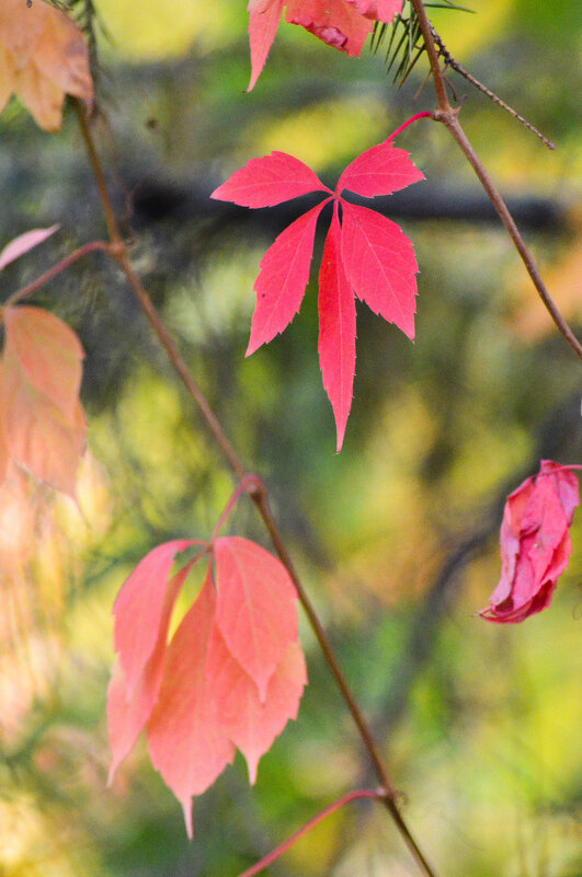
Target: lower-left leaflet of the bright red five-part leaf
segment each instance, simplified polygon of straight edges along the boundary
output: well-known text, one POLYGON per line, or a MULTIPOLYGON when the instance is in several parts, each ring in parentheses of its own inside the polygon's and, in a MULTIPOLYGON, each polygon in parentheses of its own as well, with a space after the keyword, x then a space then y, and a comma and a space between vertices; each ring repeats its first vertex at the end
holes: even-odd
POLYGON ((254 284, 256 307, 247 356, 283 332, 301 307, 309 280, 316 224, 324 201, 283 231, 261 261, 254 284))

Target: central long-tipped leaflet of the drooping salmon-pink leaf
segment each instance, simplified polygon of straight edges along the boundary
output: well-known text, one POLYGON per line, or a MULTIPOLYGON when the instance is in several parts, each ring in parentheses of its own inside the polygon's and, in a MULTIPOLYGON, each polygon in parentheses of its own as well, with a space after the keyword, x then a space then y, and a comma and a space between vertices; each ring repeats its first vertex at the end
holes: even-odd
POLYGON ((235 747, 218 723, 206 678, 215 610, 208 573, 168 647, 158 703, 147 728, 152 764, 182 804, 191 838, 192 797, 205 792, 235 757, 235 747))

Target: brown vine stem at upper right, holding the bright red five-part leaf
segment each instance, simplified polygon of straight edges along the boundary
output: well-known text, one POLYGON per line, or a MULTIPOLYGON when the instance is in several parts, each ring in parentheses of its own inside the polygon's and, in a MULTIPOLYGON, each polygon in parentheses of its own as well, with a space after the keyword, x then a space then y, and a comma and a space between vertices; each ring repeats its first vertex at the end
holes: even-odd
POLYGON ((574 333, 563 319, 562 314, 558 309, 558 305, 556 304, 548 289, 546 288, 546 285, 541 279, 541 275, 539 274, 536 261, 532 255, 529 249, 527 247, 527 244, 525 243, 524 239, 522 238, 522 234, 517 229, 517 226, 515 224, 515 220, 510 214, 505 201, 501 197, 501 194, 499 193, 495 184, 493 183, 491 176, 486 170, 484 164, 482 163, 481 159, 475 151, 469 138, 465 134, 458 120, 458 114, 460 107, 455 109, 450 106, 446 92, 445 78, 443 76, 443 71, 441 70, 441 65, 438 62, 438 51, 433 37, 431 22, 429 21, 429 18, 426 15, 426 10, 424 9, 423 0, 411 0, 411 2, 412 5, 414 7, 414 11, 416 12, 419 25, 422 31, 424 45, 426 47, 429 60, 431 64, 436 97, 438 100, 438 109, 434 112, 433 116, 437 122, 442 122, 448 128, 452 136, 455 138, 460 149, 465 153, 467 161, 469 162, 475 173, 477 174, 479 182, 487 192, 491 204, 499 214, 501 221, 505 226, 510 234, 510 238, 514 243, 515 249, 517 250, 520 256, 522 257, 522 262, 524 263, 525 268, 529 277, 532 278, 532 281, 535 288, 537 289, 539 298, 546 305, 547 311, 549 312, 551 319, 556 323, 561 335, 566 338, 566 341, 568 342, 574 354, 578 356, 578 358, 582 360, 582 345, 580 344, 574 333))

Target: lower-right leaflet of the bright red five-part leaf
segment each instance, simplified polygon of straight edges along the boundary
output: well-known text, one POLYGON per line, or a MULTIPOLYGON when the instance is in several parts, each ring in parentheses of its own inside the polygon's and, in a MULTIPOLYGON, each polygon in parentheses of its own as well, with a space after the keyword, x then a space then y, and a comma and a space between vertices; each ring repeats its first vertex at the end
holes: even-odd
POLYGON ((367 207, 342 200, 342 257, 356 296, 414 338, 419 270, 402 229, 367 207))

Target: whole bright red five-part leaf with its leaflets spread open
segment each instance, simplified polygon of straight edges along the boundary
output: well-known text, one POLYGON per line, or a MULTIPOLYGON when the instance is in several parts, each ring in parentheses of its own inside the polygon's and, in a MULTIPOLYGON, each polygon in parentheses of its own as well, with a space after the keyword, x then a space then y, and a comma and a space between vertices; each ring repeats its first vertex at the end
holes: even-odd
MULTIPOLYGON (((305 9, 312 5, 307 4, 305 9)), ((289 4, 288 9, 292 8, 289 4)), ((329 8, 335 9, 333 4, 329 8)), ((426 115, 430 114, 414 116, 398 131, 426 115)), ((412 243, 403 231, 380 214, 344 200, 342 192, 347 188, 367 197, 388 195, 423 178, 409 153, 397 149, 392 138, 388 138, 363 152, 345 169, 333 194, 333 220, 319 275, 319 357, 323 385, 335 417, 338 451, 352 403, 354 292, 375 313, 396 323, 413 338, 419 270, 412 243), (341 226, 338 203, 342 205, 341 226)), ((236 171, 210 197, 264 206, 322 191, 330 192, 303 162, 274 152, 236 171)), ((254 284, 256 308, 247 356, 283 332, 298 312, 309 280, 317 220, 329 200, 331 198, 296 219, 263 256, 254 284)))

